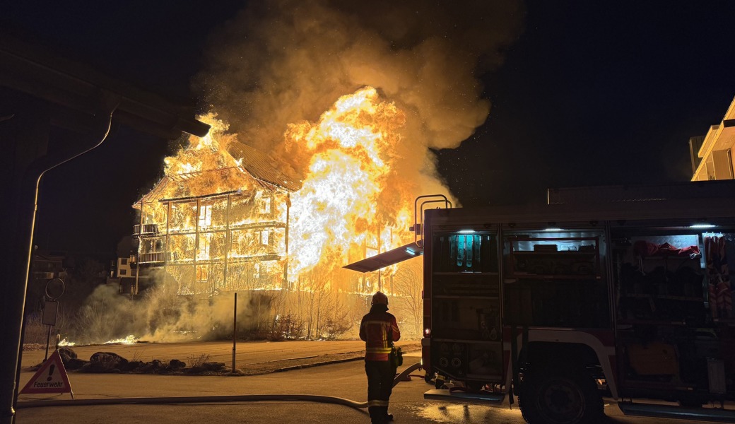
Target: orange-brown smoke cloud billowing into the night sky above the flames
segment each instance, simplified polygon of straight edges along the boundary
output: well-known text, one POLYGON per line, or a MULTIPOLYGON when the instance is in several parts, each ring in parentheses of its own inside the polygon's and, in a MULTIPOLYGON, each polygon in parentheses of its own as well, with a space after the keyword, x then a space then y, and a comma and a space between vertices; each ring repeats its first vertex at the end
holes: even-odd
POLYGON ((212 36, 196 86, 240 142, 285 160, 289 123, 376 87, 406 112, 401 171, 432 190, 429 148, 456 148, 484 123, 478 76, 501 64, 523 13, 520 0, 251 2, 212 36))

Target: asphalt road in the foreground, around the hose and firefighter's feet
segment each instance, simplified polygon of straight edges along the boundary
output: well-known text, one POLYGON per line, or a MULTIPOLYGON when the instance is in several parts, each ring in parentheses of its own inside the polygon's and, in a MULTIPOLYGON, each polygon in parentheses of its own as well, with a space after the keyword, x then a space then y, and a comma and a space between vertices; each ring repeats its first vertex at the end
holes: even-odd
MULTIPOLYGON (((417 356, 406 356, 406 366, 417 356)), ((400 371, 400 370, 399 370, 400 371)), ((420 375, 420 372, 416 373, 420 375)), ((31 378, 24 373, 21 384, 31 378)), ((146 376, 130 374, 79 374, 69 376, 75 398, 212 396, 257 394, 329 395, 364 402, 366 379, 361 361, 340 362, 259 376, 146 376)), ((520 411, 509 406, 492 407, 445 403, 423 399, 431 389, 416 377, 398 384, 391 398, 395 423, 497 423, 520 424, 520 411)), ((69 400, 65 395, 22 395, 21 406, 30 400, 69 400)), ((612 424, 667 423, 667 420, 623 417, 614 404, 606 405, 612 424)), ((115 423, 369 423, 362 409, 304 401, 179 403, 157 405, 21 407, 17 424, 49 422, 74 424, 115 423)))

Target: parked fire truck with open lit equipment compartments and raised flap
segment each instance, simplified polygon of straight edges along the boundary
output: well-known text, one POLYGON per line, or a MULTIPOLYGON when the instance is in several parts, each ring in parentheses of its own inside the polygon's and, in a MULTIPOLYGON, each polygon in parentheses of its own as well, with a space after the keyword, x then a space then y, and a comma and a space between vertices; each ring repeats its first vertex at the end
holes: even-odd
POLYGON ((362 270, 423 254, 427 399, 517 401, 531 424, 598 423, 603 399, 735 422, 735 184, 708 183, 422 196, 415 242, 362 270))

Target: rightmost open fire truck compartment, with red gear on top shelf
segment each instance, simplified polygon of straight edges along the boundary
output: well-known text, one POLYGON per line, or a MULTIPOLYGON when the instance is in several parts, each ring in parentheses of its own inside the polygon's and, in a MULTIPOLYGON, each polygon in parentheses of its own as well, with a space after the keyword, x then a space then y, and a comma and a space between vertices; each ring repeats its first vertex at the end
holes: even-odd
POLYGON ((735 328, 723 315, 731 243, 724 240, 700 234, 614 239, 620 361, 631 387, 689 387, 684 401, 697 405, 698 392, 724 394, 735 385, 735 328))

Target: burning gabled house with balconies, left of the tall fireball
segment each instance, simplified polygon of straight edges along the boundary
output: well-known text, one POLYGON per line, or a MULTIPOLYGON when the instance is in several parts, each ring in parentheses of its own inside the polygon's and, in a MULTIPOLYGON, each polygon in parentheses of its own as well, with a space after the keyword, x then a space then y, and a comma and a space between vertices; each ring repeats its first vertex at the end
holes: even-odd
POLYGON ((137 275, 163 270, 182 295, 287 288, 290 193, 300 183, 237 141, 193 145, 176 160, 187 157, 199 165, 167 167, 133 205, 137 275))

